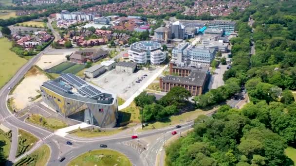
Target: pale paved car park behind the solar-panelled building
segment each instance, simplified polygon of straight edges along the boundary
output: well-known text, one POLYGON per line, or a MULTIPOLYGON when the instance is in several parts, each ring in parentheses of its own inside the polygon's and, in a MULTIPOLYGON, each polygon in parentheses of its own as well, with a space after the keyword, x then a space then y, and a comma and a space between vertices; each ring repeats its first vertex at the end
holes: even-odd
POLYGON ((161 66, 153 67, 155 70, 141 69, 135 73, 118 72, 113 69, 96 79, 92 79, 92 82, 107 91, 117 94, 118 97, 128 100, 136 91, 138 91, 138 89, 140 89, 140 87, 142 87, 161 69, 161 66), (144 74, 147 74, 148 77, 145 77, 140 83, 136 83, 136 81, 144 74))

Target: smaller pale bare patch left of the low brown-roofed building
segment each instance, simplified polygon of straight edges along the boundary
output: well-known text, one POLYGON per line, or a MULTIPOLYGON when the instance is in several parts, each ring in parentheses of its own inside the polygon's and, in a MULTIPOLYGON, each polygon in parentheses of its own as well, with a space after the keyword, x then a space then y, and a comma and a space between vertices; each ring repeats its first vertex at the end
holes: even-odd
POLYGON ((43 70, 46 70, 66 61, 66 55, 64 54, 43 55, 36 65, 43 70))

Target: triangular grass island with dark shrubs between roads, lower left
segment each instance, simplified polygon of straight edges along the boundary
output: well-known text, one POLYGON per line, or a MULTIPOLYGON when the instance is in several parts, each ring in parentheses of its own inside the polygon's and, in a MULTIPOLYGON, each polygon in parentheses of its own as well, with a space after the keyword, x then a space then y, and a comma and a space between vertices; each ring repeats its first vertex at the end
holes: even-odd
POLYGON ((38 141, 38 138, 36 136, 24 130, 19 129, 19 140, 18 140, 18 149, 17 149, 16 157, 30 150, 37 141, 38 141))

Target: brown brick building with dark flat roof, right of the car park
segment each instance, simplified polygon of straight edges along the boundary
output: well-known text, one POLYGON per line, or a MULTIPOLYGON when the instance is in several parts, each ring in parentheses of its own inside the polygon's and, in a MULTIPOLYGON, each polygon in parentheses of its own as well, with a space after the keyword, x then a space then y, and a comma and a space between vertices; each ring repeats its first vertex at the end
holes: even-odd
POLYGON ((170 62, 169 74, 160 78, 159 83, 162 91, 169 92, 174 86, 181 86, 187 89, 192 96, 202 95, 208 78, 207 67, 195 68, 181 66, 175 62, 170 62))

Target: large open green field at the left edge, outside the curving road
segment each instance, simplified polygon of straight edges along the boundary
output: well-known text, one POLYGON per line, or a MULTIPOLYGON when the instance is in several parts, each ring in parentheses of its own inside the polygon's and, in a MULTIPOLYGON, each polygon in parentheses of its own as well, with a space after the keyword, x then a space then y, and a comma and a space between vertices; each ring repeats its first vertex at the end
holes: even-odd
POLYGON ((0 38, 0 88, 23 66, 27 60, 10 51, 11 42, 0 38))

